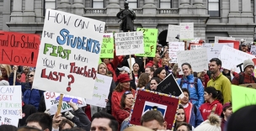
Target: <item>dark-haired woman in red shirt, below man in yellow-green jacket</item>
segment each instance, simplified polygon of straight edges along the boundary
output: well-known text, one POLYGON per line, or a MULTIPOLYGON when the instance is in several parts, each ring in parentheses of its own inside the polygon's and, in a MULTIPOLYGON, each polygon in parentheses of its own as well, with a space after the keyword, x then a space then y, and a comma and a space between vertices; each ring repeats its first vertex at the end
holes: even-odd
POLYGON ((221 116, 223 95, 221 91, 218 91, 213 86, 205 88, 205 103, 203 103, 199 109, 204 120, 208 118, 211 113, 216 113, 221 116))

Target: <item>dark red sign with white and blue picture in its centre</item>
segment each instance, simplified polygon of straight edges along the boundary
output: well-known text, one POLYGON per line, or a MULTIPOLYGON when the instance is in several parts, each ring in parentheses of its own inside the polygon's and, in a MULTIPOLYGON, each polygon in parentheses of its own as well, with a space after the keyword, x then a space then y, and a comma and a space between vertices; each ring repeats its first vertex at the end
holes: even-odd
POLYGON ((131 110, 130 123, 141 125, 141 116, 147 111, 152 110, 152 107, 157 107, 157 110, 163 114, 164 120, 168 123, 167 128, 173 128, 178 105, 178 97, 138 89, 136 92, 135 104, 132 107, 133 109, 136 108, 136 112, 131 110))

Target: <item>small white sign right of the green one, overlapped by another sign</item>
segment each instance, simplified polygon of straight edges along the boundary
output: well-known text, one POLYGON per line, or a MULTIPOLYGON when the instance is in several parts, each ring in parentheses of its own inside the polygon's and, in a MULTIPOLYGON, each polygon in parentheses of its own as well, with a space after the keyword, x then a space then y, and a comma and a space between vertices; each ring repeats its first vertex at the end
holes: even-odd
POLYGON ((179 39, 176 39, 176 37, 179 37, 179 34, 180 34, 179 25, 168 24, 166 42, 179 42, 179 39))

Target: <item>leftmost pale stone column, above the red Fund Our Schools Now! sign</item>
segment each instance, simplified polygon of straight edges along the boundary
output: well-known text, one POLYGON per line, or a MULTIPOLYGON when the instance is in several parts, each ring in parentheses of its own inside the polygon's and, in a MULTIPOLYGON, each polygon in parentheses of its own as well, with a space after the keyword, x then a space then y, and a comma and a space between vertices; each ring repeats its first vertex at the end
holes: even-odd
POLYGON ((13 0, 13 11, 11 13, 11 22, 22 22, 22 1, 21 0, 13 0))

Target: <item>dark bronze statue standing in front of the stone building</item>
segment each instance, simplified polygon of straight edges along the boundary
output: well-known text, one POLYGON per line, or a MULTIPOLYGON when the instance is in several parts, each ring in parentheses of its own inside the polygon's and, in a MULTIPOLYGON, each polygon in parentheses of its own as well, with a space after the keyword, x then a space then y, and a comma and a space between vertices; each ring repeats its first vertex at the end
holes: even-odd
POLYGON ((116 14, 116 17, 120 18, 120 21, 122 21, 120 24, 120 30, 123 30, 124 32, 134 31, 133 20, 136 18, 136 14, 129 9, 128 5, 129 3, 125 1, 125 9, 116 14))

